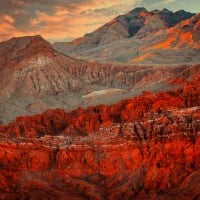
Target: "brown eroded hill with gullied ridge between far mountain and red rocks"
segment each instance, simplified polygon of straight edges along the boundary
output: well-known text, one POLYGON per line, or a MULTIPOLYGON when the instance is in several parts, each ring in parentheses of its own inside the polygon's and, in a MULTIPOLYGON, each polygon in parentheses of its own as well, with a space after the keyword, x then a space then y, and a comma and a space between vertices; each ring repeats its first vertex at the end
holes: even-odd
POLYGON ((65 56, 41 36, 0 43, 0 120, 48 108, 112 104, 121 99, 174 87, 169 79, 198 65, 119 65, 65 56))

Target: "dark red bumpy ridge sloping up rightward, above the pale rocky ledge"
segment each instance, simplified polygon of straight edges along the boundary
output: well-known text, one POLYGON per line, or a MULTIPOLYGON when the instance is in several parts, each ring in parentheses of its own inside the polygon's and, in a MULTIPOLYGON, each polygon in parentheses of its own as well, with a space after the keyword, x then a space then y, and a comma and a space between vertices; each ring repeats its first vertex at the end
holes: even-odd
POLYGON ((193 81, 186 82, 183 89, 172 92, 159 92, 156 95, 143 95, 122 100, 110 106, 91 106, 78 108, 71 112, 62 109, 48 110, 40 115, 17 117, 11 124, 1 126, 0 132, 16 136, 45 134, 87 135, 101 126, 112 123, 141 120, 148 112, 167 112, 168 110, 200 105, 200 79, 197 74, 193 81))

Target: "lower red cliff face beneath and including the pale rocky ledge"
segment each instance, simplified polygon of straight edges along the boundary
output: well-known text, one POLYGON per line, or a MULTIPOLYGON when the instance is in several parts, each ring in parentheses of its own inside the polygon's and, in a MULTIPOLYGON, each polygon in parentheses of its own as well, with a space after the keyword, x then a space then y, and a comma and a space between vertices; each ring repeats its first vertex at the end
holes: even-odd
POLYGON ((182 137, 1 138, 1 198, 198 198, 199 136, 182 137))

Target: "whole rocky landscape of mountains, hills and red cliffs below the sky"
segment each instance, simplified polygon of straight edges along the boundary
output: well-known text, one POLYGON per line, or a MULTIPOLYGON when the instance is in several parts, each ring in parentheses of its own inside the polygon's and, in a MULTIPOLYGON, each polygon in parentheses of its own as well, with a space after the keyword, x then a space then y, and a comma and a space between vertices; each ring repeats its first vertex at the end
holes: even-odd
POLYGON ((200 199, 199 17, 1 42, 0 199, 200 199))

